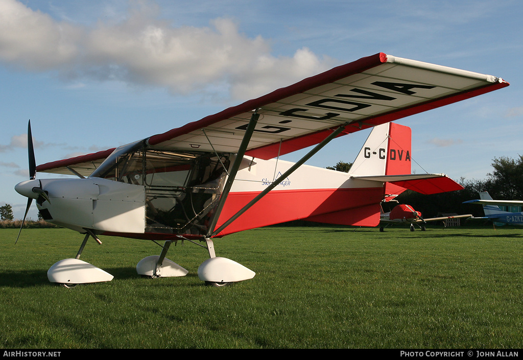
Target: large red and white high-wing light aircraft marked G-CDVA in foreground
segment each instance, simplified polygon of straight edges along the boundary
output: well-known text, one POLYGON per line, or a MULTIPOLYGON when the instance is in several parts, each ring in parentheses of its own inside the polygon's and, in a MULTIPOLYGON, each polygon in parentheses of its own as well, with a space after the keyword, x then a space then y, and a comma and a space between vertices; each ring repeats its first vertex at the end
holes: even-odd
MULTIPOLYGON (((187 274, 166 258, 169 246, 202 242, 209 258, 198 276, 223 286, 255 273, 216 256, 217 238, 297 219, 377 226, 389 185, 425 194, 461 188, 443 174, 411 174, 410 161, 393 151, 393 134, 387 135, 390 147, 363 148, 366 161, 352 172, 303 165, 329 141, 508 85, 491 75, 378 53, 119 148, 39 166, 29 123, 30 179, 15 189, 28 198, 25 216, 34 199, 46 221, 85 234, 75 258, 51 266, 51 282, 111 280, 79 260, 87 240, 100 242, 103 234, 163 241, 160 255, 137 265, 151 277, 187 274), (279 159, 308 147, 297 163, 279 159), (78 178, 37 179, 37 172, 78 178)), ((394 124, 386 128, 395 131, 394 124)))

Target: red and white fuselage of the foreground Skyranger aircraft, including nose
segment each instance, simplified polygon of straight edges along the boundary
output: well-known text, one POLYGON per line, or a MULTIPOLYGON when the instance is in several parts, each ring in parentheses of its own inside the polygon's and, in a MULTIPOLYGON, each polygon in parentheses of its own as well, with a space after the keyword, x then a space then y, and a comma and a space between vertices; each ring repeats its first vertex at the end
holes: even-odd
MULTIPOLYGON (((201 238, 209 234, 213 216, 218 216, 215 228, 220 227, 293 165, 243 158, 222 211, 215 215, 228 179, 225 169, 234 154, 141 148, 115 153, 87 178, 31 180, 16 190, 37 199, 46 221, 75 231, 145 239, 201 238)), ((382 185, 302 165, 216 235, 297 219, 376 226, 382 185)))

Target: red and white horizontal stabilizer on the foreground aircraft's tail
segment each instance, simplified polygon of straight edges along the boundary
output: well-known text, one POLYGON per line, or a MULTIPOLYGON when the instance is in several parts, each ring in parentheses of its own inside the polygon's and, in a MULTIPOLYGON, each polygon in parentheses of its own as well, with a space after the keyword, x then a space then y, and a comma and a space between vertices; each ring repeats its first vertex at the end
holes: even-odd
POLYGON ((463 186, 445 174, 353 176, 352 178, 391 183, 424 195, 463 189, 463 186))

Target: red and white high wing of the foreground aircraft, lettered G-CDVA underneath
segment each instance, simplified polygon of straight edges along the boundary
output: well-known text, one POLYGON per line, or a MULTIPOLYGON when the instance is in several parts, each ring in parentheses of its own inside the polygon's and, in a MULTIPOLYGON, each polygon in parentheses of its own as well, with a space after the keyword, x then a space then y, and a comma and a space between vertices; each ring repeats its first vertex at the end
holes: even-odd
MULTIPOLYGON (((501 78, 378 53, 143 141, 151 147, 235 153, 253 111, 246 155, 267 160, 339 136, 508 86, 501 78)), ((113 149, 37 167, 87 176, 113 149)))

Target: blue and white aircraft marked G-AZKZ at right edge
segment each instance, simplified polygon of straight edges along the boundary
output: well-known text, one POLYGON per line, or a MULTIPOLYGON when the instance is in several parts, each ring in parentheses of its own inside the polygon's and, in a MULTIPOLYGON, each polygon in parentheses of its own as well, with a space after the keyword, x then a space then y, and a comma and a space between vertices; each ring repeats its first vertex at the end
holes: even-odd
POLYGON ((493 200, 488 192, 481 192, 480 199, 464 201, 463 204, 483 205, 485 217, 473 219, 486 219, 501 224, 523 225, 523 212, 503 211, 499 205, 523 206, 521 200, 493 200))

